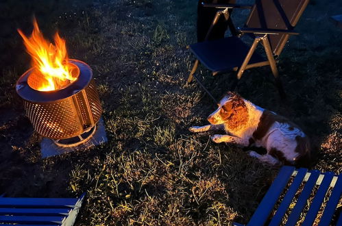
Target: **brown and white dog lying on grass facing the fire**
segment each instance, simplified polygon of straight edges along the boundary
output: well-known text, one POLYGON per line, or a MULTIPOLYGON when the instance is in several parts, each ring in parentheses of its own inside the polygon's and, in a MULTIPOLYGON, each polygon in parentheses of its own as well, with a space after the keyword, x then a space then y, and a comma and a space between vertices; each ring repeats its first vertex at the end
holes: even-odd
POLYGON ((227 142, 243 147, 264 147, 265 155, 249 151, 249 155, 271 165, 310 163, 310 143, 302 129, 288 119, 254 105, 234 92, 228 92, 219 108, 208 116, 210 125, 193 126, 192 132, 223 129, 214 142, 227 142))

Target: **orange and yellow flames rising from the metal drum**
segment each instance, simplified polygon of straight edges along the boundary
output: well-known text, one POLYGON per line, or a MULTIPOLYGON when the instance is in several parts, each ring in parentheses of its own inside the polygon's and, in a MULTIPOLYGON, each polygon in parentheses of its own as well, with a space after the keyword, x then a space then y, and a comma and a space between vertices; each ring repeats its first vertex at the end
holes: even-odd
POLYGON ((64 88, 77 79, 75 66, 69 63, 66 51, 65 40, 60 38, 56 32, 53 45, 42 36, 38 23, 34 18, 34 29, 32 35, 27 38, 20 29, 19 34, 24 40, 24 45, 29 55, 32 56, 32 66, 34 72, 30 77, 34 77, 34 87, 40 91, 51 91, 64 88))

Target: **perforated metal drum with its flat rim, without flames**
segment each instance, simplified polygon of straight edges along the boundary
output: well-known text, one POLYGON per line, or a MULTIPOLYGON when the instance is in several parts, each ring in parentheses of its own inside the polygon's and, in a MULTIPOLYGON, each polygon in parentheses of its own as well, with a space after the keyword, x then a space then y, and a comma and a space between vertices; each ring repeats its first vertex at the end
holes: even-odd
POLYGON ((89 131, 102 113, 99 95, 90 67, 79 60, 69 60, 80 69, 76 81, 65 88, 38 91, 27 80, 33 68, 16 83, 16 92, 24 100, 25 111, 41 136, 54 140, 73 138, 89 131))

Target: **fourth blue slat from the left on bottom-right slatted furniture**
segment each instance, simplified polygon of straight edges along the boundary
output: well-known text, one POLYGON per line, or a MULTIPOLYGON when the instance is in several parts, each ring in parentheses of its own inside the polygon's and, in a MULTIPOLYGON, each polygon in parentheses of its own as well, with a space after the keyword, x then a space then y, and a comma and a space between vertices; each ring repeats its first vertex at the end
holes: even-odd
POLYGON ((310 204, 310 209, 306 213, 302 226, 313 225, 313 222, 315 221, 319 208, 321 208, 321 205, 323 203, 324 197, 326 197, 326 192, 328 191, 328 188, 330 187, 332 178, 334 178, 334 173, 332 172, 324 173, 323 181, 321 182, 321 185, 319 186, 317 193, 315 194, 315 198, 313 199, 313 202, 310 204))

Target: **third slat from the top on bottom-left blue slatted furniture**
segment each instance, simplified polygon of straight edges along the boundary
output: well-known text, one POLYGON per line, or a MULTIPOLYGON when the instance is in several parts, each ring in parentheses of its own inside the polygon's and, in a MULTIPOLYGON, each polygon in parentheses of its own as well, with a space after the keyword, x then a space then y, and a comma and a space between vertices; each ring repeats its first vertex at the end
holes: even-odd
POLYGON ((1 223, 61 224, 64 216, 0 216, 1 223))

